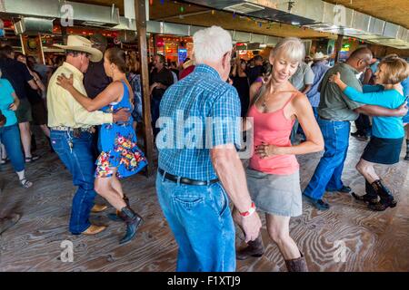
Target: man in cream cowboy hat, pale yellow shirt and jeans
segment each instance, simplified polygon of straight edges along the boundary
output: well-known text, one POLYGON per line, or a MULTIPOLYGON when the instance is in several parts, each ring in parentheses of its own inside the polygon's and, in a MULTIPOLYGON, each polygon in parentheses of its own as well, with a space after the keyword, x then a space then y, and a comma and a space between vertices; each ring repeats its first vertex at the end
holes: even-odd
POLYGON ((47 93, 48 126, 51 128, 51 142, 55 152, 73 175, 78 189, 73 199, 70 232, 74 235, 95 235, 105 229, 92 225, 88 218, 94 206, 94 156, 93 125, 127 121, 130 112, 115 114, 102 111, 86 111, 72 95, 56 83, 58 75, 73 75, 75 88, 86 95, 83 84, 89 62, 100 62, 103 53, 92 46, 84 37, 69 35, 67 45, 55 46, 66 51, 66 61, 50 79, 47 93))

